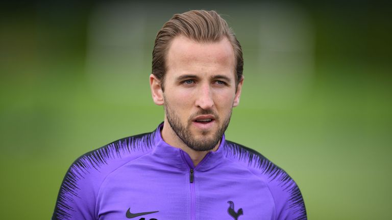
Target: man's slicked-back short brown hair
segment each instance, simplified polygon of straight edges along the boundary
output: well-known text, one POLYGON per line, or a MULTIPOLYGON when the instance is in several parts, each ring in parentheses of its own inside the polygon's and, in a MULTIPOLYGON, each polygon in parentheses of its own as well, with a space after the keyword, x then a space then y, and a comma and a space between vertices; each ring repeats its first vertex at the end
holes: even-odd
POLYGON ((192 10, 182 14, 175 14, 157 33, 153 49, 152 73, 163 81, 166 71, 166 53, 171 40, 178 35, 202 43, 218 42, 226 37, 234 50, 236 61, 236 82, 241 80, 243 71, 242 49, 226 20, 215 11, 192 10))

